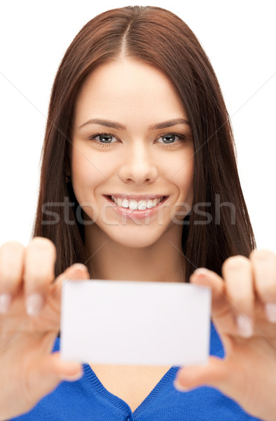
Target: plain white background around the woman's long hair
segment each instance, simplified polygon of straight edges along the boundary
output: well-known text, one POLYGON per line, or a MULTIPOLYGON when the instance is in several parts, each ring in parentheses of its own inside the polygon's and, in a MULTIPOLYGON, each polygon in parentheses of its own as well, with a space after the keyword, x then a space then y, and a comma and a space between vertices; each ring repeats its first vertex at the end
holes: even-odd
POLYGON ((160 6, 198 36, 230 113, 258 248, 276 251, 274 1, 6 1, 0 9, 0 243, 27 245, 50 88, 74 36, 110 8, 160 6))

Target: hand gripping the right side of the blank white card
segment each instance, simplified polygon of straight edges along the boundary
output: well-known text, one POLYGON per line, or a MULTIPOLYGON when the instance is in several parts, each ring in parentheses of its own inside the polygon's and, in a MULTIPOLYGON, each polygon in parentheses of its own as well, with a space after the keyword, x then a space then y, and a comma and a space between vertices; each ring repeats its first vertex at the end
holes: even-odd
POLYGON ((226 356, 210 356, 207 366, 180 368, 175 386, 216 387, 247 413, 275 421, 276 255, 254 250, 249 258, 230 257, 222 276, 200 268, 191 283, 212 288, 212 321, 226 356))

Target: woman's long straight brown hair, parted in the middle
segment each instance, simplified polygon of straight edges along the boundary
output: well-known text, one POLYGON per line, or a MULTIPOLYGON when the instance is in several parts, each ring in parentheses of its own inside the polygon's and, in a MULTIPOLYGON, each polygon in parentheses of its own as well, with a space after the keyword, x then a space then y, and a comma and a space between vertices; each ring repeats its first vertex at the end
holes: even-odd
POLYGON ((76 221, 78 203, 65 180, 72 114, 85 77, 118 56, 159 69, 183 101, 195 149, 193 208, 185 218, 189 225, 184 225, 182 236, 185 281, 196 267, 221 274, 226 258, 237 254, 248 257, 256 248, 237 173, 230 119, 219 82, 195 34, 177 15, 159 7, 127 6, 101 13, 81 29, 67 49, 50 98, 33 236, 55 243, 56 274, 87 259, 83 226, 76 221), (65 199, 75 203, 67 210, 70 222, 64 218, 65 199), (208 223, 206 216, 201 216, 204 212, 210 215, 208 223))

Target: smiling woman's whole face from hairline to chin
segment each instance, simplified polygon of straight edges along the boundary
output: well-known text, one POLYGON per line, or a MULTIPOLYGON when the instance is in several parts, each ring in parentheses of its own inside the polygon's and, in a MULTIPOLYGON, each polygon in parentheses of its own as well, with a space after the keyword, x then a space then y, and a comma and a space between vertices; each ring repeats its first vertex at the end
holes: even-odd
POLYGON ((193 200, 186 121, 170 79, 143 62, 108 62, 85 79, 74 107, 71 180, 86 230, 130 247, 150 246, 171 229, 181 234, 193 200))

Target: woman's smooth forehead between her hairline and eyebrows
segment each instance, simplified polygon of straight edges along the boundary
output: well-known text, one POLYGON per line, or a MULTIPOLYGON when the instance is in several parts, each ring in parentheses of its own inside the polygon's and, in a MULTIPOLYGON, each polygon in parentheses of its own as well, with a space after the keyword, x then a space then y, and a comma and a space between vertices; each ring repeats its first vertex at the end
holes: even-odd
POLYGON ((187 118, 170 79, 155 67, 132 59, 107 62, 85 79, 75 102, 75 123, 99 116, 116 121, 135 116, 149 124, 187 118))

